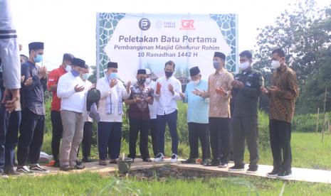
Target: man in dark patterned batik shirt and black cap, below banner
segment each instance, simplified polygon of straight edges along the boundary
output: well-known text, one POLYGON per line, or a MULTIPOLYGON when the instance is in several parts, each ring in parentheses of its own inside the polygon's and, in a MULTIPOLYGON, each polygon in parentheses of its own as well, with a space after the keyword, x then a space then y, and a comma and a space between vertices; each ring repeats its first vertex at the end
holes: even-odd
POLYGON ((130 122, 130 155, 129 158, 135 160, 137 136, 140 132, 140 153, 142 161, 152 162, 149 159, 148 152, 148 131, 149 131, 149 108, 153 104, 153 89, 145 85, 146 70, 137 71, 137 84, 132 85, 129 99, 125 104, 129 105, 129 122, 130 122))

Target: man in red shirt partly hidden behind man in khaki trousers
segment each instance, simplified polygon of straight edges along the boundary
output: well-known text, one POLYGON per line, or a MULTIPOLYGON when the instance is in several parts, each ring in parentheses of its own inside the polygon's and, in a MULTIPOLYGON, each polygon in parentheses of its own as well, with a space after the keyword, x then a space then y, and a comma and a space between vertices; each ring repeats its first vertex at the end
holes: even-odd
POLYGON ((65 53, 63 55, 63 61, 62 65, 58 67, 55 70, 52 70, 48 75, 48 82, 47 82, 47 88, 49 92, 52 92, 53 98, 52 98, 52 107, 51 107, 51 121, 52 121, 52 128, 53 128, 53 136, 52 136, 52 153, 53 153, 53 159, 55 162, 53 163, 53 167, 59 167, 59 160, 58 160, 58 153, 60 148, 60 141, 62 137, 63 132, 63 126, 61 121, 61 99, 58 98, 58 95, 56 94, 56 90, 58 88, 58 80, 61 77, 61 75, 64 75, 66 72, 69 72, 71 70, 71 62, 73 60, 74 56, 65 53))

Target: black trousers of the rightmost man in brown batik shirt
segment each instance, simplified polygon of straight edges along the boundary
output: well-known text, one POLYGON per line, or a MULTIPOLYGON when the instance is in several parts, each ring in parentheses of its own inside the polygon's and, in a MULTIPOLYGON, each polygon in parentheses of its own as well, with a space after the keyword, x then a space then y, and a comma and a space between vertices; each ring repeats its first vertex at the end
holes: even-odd
POLYGON ((291 170, 291 124, 286 121, 269 121, 270 146, 273 153, 273 170, 291 170), (283 157, 282 157, 283 154, 283 157))

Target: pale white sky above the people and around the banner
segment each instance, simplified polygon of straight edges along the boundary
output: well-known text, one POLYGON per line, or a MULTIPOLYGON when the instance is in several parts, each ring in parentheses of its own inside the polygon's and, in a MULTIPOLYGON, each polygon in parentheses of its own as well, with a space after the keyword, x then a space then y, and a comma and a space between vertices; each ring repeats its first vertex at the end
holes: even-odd
MULTIPOLYGON (((28 43, 45 43, 44 62, 48 70, 61 64, 63 53, 73 53, 88 65, 95 65, 96 13, 237 13, 238 50, 253 50, 256 37, 289 4, 298 0, 10 0, 21 54, 28 55, 28 43)), ((315 0, 318 7, 331 0, 315 0)))

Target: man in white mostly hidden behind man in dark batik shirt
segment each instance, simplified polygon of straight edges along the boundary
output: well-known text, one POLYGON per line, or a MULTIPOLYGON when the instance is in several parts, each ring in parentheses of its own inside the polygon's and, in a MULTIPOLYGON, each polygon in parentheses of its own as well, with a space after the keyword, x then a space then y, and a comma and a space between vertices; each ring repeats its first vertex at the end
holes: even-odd
MULTIPOLYGON (((151 70, 146 69, 146 82, 145 85, 147 87, 150 87, 152 89, 155 89, 157 87, 157 82, 153 81, 151 79, 152 73, 151 70)), ((149 117, 150 117, 150 126, 149 130, 152 136, 152 148, 153 148, 153 153, 154 157, 157 156, 157 153, 159 153, 159 150, 157 149, 157 102, 153 102, 153 104, 148 104, 149 107, 149 117)))

